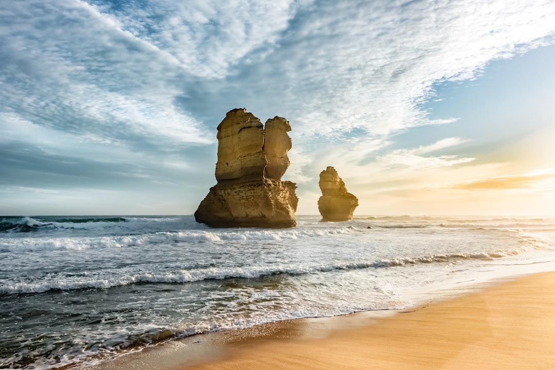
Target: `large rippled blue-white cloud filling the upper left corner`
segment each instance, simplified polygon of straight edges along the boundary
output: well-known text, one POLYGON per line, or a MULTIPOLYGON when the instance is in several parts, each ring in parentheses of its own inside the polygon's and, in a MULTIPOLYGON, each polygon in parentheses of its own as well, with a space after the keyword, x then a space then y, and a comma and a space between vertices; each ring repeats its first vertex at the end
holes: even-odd
POLYGON ((173 105, 182 72, 169 54, 84 2, 2 5, 0 119, 107 143, 213 141, 173 105))

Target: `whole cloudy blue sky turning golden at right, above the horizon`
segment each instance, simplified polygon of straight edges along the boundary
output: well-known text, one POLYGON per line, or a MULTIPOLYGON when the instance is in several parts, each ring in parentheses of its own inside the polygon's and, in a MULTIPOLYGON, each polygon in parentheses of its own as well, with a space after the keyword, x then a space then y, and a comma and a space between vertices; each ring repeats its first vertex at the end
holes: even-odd
POLYGON ((555 215, 555 2, 0 2, 0 215, 190 215, 216 126, 290 121, 297 215, 555 215))

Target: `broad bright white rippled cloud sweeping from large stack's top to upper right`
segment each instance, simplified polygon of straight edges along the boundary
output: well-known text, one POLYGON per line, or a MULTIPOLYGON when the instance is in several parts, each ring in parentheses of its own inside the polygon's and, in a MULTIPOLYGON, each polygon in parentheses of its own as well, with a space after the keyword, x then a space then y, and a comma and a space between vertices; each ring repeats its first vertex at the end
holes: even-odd
POLYGON ((419 109, 436 83, 548 42, 555 7, 536 5, 318 2, 296 14, 264 63, 238 66, 226 96, 248 87, 240 99, 278 105, 303 135, 440 123, 419 109))

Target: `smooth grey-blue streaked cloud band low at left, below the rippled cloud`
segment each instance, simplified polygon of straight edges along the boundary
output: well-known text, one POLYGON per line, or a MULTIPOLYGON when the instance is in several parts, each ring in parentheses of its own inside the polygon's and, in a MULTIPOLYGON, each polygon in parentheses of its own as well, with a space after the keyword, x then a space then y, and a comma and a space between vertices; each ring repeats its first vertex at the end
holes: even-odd
POLYGON ((205 168, 213 165, 210 156, 191 160, 194 147, 153 156, 149 151, 136 153, 125 146, 59 133, 17 117, 0 121, 0 131, 0 172, 6 174, 0 186, 12 189, 145 189, 161 183, 186 187, 191 175, 205 180, 205 168))

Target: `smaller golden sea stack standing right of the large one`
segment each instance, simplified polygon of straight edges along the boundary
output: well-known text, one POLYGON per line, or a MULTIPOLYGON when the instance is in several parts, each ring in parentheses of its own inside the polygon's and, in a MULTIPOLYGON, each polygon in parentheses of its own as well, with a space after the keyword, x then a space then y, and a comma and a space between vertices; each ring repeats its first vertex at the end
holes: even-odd
POLYGON ((320 173, 320 190, 322 196, 318 200, 318 210, 322 221, 349 221, 352 212, 359 205, 356 196, 347 192, 345 183, 333 167, 327 167, 320 173))

